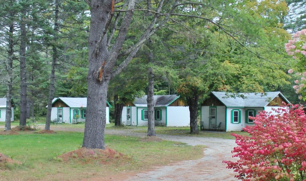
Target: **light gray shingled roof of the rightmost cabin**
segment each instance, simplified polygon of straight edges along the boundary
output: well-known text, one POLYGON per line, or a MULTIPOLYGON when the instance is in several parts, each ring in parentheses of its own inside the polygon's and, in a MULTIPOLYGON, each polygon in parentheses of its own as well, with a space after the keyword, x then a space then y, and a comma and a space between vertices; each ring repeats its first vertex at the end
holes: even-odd
POLYGON ((224 105, 228 107, 265 107, 269 104, 269 100, 273 100, 276 96, 281 96, 287 103, 290 103, 281 92, 265 92, 266 95, 261 93, 239 93, 244 95, 246 98, 241 97, 229 97, 226 96, 226 92, 211 92, 218 98, 224 105))

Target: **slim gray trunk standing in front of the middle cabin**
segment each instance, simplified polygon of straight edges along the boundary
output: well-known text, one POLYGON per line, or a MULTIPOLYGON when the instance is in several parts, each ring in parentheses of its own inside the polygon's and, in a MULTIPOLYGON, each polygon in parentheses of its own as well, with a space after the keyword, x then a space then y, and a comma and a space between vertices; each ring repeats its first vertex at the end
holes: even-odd
POLYGON ((148 136, 155 135, 155 121, 154 121, 154 89, 153 81, 154 74, 151 68, 149 68, 149 85, 147 90, 147 107, 148 107, 148 136))

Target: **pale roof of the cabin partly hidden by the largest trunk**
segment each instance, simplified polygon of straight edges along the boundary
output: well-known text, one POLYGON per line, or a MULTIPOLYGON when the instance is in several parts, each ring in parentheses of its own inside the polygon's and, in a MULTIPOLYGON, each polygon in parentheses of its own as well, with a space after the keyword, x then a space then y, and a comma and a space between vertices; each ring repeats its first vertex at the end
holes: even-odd
MULTIPOLYGON (((58 97, 52 100, 52 104, 57 100, 62 100, 69 107, 87 107, 87 97, 58 97)), ((106 103, 109 107, 112 107, 107 101, 106 103)))

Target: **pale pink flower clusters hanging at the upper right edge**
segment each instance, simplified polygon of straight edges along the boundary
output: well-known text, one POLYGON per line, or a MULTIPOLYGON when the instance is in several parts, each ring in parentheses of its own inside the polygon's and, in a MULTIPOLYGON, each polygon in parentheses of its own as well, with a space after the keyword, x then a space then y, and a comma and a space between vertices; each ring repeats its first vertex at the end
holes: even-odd
MULTIPOLYGON (((297 85, 293 86, 299 95, 300 100, 306 101, 306 29, 297 31, 293 35, 293 39, 289 40, 285 44, 286 52, 288 55, 292 56, 293 59, 297 60, 297 76, 300 80, 294 81, 297 85)), ((293 73, 293 70, 288 71, 289 74, 293 73)))

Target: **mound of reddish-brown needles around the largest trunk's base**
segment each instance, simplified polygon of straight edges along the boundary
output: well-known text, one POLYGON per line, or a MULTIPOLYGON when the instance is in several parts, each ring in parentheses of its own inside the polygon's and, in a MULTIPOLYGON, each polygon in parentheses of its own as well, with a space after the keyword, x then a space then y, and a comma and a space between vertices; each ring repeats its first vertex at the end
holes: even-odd
POLYGON ((132 157, 122 153, 118 153, 112 149, 89 149, 80 148, 68 153, 55 157, 57 161, 75 162, 80 164, 127 164, 132 160, 132 157))

